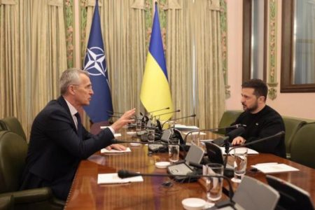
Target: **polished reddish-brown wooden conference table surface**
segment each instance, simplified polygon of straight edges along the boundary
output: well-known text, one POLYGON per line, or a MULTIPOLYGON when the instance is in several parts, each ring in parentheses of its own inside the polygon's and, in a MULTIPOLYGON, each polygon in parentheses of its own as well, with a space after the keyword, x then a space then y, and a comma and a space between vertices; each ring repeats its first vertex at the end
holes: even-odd
MULTIPOLYGON (((123 135, 125 136, 125 135, 123 135)), ((127 145, 129 146, 129 145, 127 145)), ((155 168, 155 162, 168 161, 167 153, 148 154, 148 146, 130 147, 131 153, 96 153, 82 160, 76 172, 65 209, 181 209, 181 201, 188 197, 207 200, 200 182, 177 183, 168 177, 145 177, 144 182, 125 184, 97 184, 97 174, 116 173, 120 169, 141 173, 167 173, 166 169, 155 168), (162 184, 172 181, 173 186, 162 184)), ((246 175, 266 183, 265 174, 251 172, 251 165, 262 162, 285 163, 298 172, 272 174, 306 190, 315 203, 315 169, 291 162, 275 155, 260 153, 248 155, 246 175)), ((232 183, 237 188, 237 183, 232 183)), ((223 197, 223 200, 227 197, 223 197)))

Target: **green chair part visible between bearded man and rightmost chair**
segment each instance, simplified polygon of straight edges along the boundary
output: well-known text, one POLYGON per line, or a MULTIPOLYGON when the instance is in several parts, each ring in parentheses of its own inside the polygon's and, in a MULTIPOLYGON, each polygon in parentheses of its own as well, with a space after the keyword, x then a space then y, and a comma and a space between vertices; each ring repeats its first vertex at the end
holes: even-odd
POLYGON ((285 137, 286 158, 290 159, 292 139, 294 135, 296 134, 297 130, 299 130, 300 127, 302 127, 306 122, 298 118, 290 118, 286 116, 283 116, 282 119, 284 122, 284 126, 286 127, 286 137, 285 137))

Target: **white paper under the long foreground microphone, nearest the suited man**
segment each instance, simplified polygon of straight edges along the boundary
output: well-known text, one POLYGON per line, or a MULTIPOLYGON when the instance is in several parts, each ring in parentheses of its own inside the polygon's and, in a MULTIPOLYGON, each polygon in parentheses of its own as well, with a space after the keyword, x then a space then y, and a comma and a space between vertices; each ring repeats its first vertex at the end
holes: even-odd
POLYGON ((121 179, 117 173, 113 174, 98 174, 97 184, 111 184, 111 183, 130 183, 144 181, 142 176, 133 176, 130 178, 121 179))

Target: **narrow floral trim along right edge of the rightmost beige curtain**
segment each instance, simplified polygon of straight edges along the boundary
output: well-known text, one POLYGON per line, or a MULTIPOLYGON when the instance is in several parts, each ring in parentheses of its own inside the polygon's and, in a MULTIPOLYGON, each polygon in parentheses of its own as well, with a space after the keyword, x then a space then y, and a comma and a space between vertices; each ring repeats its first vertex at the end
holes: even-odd
POLYGON ((222 69, 225 84, 225 99, 231 97, 230 85, 228 85, 228 24, 227 24, 227 3, 220 0, 220 24, 221 24, 221 43, 222 43, 222 69))

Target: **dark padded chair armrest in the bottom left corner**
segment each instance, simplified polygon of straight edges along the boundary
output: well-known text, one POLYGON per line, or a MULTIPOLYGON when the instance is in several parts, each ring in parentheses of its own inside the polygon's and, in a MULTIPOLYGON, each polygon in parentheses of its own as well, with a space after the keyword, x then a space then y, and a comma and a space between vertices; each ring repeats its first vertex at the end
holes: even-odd
POLYGON ((13 195, 15 204, 41 202, 52 200, 52 192, 50 188, 35 188, 30 190, 20 190, 10 193, 1 193, 3 195, 13 195))

